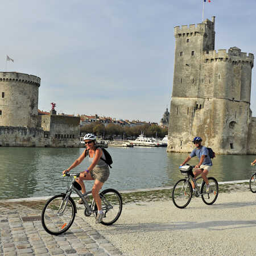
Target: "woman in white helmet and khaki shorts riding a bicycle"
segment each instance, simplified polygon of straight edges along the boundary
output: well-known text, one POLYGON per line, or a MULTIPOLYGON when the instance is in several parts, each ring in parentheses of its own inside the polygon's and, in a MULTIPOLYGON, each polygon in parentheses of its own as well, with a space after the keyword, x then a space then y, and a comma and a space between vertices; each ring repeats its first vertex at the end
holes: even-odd
MULTIPOLYGON (((104 152, 102 152, 101 148, 96 148, 96 136, 92 133, 88 133, 85 134, 83 139, 86 146, 84 152, 82 152, 79 158, 77 158, 75 162, 73 162, 73 164, 71 164, 71 166, 67 168, 67 170, 63 171, 63 174, 78 166, 86 156, 89 157, 88 160, 90 162, 90 166, 87 170, 80 173, 80 176, 76 179, 76 181, 81 185, 81 192, 84 194, 84 180, 95 180, 92 188, 92 196, 96 202, 98 209, 96 223, 100 223, 102 221, 104 213, 101 210, 101 198, 98 193, 100 192, 100 189, 104 182, 109 177, 109 167, 108 164, 106 164, 104 160, 101 159, 106 159, 104 152)), ((77 203, 82 204, 82 200, 78 200, 77 203)))

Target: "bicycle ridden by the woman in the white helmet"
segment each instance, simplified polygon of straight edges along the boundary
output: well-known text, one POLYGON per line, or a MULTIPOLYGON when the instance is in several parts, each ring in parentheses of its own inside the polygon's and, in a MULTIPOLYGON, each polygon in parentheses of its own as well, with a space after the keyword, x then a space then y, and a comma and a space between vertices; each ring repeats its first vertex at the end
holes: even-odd
MULTIPOLYGON (((42 211, 42 225, 47 233, 52 235, 59 235, 65 233, 73 224, 75 216, 77 213, 77 208, 75 201, 71 197, 71 193, 76 193, 84 203, 85 216, 90 216, 92 213, 97 216, 97 205, 94 199, 92 203, 89 204, 84 198, 88 196, 92 191, 88 191, 84 194, 80 192, 81 186, 76 182, 76 178, 80 174, 64 174, 63 177, 71 177, 67 181, 67 189, 65 193, 51 197, 43 208, 42 211)), ((63 181, 64 182, 64 181, 63 181)), ((63 186, 64 187, 64 186, 63 186)), ((118 220, 122 212, 122 197, 118 191, 113 188, 105 189, 100 193, 102 211, 104 212, 104 217, 101 224, 112 225, 118 220)))

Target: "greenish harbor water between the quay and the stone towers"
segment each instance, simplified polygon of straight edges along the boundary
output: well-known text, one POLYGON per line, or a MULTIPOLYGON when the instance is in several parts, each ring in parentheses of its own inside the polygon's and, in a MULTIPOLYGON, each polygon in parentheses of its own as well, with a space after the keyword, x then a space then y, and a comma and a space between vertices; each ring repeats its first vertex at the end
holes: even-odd
MULTIPOLYGON (((84 148, 0 147, 0 199, 55 195, 62 192, 61 172, 67 169, 84 148)), ((167 153, 163 147, 109 147, 113 168, 104 188, 119 191, 168 187, 181 178, 179 164, 188 154, 167 153)), ((218 181, 246 180, 255 172, 253 155, 217 155, 208 176, 218 181)), ((189 163, 197 164, 193 158, 189 163)), ((86 170, 86 158, 73 173, 86 170)), ((86 181, 89 190, 93 181, 86 181)))

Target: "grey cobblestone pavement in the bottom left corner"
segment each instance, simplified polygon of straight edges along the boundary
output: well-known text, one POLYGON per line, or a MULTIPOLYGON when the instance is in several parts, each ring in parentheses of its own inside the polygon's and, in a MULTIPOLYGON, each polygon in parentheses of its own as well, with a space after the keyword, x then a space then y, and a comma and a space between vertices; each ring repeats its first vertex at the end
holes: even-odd
POLYGON ((0 201, 0 255, 122 254, 85 217, 76 216, 65 234, 51 236, 42 227, 41 212, 42 208, 0 201))

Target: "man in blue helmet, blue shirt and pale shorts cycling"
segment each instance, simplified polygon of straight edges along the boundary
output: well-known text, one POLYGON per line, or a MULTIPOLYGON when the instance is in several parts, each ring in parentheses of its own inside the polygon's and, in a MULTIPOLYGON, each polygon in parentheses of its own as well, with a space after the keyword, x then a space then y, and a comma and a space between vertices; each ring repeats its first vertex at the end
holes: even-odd
MULTIPOLYGON (((207 179, 208 172, 210 171, 210 168, 212 168, 212 160, 210 160, 208 149, 201 145, 202 139, 200 137, 193 138, 192 141, 196 148, 191 152, 191 154, 185 159, 185 161, 181 164, 181 166, 184 166, 185 163, 187 163, 191 158, 194 156, 197 156, 199 158, 199 164, 195 166, 195 169, 193 171, 193 174, 195 177, 201 174, 203 177, 203 180, 207 184, 206 192, 210 192, 210 185, 209 181, 207 179)), ((192 187, 193 191, 195 192, 195 184, 192 181, 192 187)))

